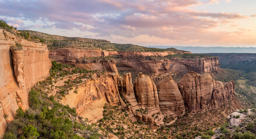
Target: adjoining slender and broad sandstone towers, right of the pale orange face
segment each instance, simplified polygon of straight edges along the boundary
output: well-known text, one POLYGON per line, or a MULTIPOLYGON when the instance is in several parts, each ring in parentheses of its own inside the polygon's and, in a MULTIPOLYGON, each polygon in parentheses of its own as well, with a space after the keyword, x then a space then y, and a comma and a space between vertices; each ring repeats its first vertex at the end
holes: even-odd
POLYGON ((132 85, 131 73, 124 74, 122 96, 131 105, 128 111, 139 120, 163 125, 164 115, 159 108, 159 99, 155 83, 149 76, 140 73, 132 85))

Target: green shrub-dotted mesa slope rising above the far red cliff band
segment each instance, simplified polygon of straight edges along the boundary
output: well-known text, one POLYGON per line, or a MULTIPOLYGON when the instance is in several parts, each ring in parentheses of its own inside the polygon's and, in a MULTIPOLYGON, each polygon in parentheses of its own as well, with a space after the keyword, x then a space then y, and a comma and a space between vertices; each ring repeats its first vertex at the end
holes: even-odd
POLYGON ((59 35, 45 34, 37 31, 20 30, 20 36, 24 39, 33 42, 45 43, 48 49, 59 49, 59 48, 76 48, 76 49, 103 49, 108 51, 136 51, 136 52, 185 52, 184 50, 177 50, 173 47, 166 49, 144 47, 133 44, 119 44, 111 43, 103 39, 89 39, 79 37, 67 37, 59 35))

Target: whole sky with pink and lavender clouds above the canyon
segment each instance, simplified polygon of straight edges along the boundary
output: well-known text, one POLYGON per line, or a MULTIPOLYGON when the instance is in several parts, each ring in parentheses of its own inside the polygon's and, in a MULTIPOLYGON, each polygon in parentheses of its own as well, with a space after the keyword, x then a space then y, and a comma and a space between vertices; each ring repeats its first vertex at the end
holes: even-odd
POLYGON ((18 30, 142 46, 256 47, 255 0, 0 0, 18 30))

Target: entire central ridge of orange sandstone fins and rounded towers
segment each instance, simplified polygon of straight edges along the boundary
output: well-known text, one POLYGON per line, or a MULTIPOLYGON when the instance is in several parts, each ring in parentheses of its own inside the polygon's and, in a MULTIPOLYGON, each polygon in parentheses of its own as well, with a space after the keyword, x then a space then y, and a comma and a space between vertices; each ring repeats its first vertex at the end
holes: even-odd
POLYGON ((117 74, 104 74, 80 83, 61 103, 76 108, 79 116, 89 119, 89 122, 103 118, 103 106, 109 103, 127 108, 128 118, 133 121, 170 125, 178 116, 184 115, 185 110, 215 109, 233 98, 234 82, 223 85, 209 74, 190 72, 178 84, 166 76, 155 85, 142 73, 133 84, 131 73, 126 73, 122 81, 117 74))

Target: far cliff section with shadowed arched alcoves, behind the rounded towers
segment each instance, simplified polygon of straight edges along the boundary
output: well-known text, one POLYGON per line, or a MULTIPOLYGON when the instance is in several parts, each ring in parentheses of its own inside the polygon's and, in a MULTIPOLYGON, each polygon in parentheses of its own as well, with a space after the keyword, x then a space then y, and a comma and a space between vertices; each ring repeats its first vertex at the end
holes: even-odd
POLYGON ((116 59, 118 70, 137 69, 139 71, 148 71, 153 74, 163 74, 165 72, 179 72, 181 75, 189 71, 197 73, 209 73, 217 71, 220 68, 218 57, 205 58, 170 58, 170 59, 146 59, 146 58, 119 58, 116 59))

